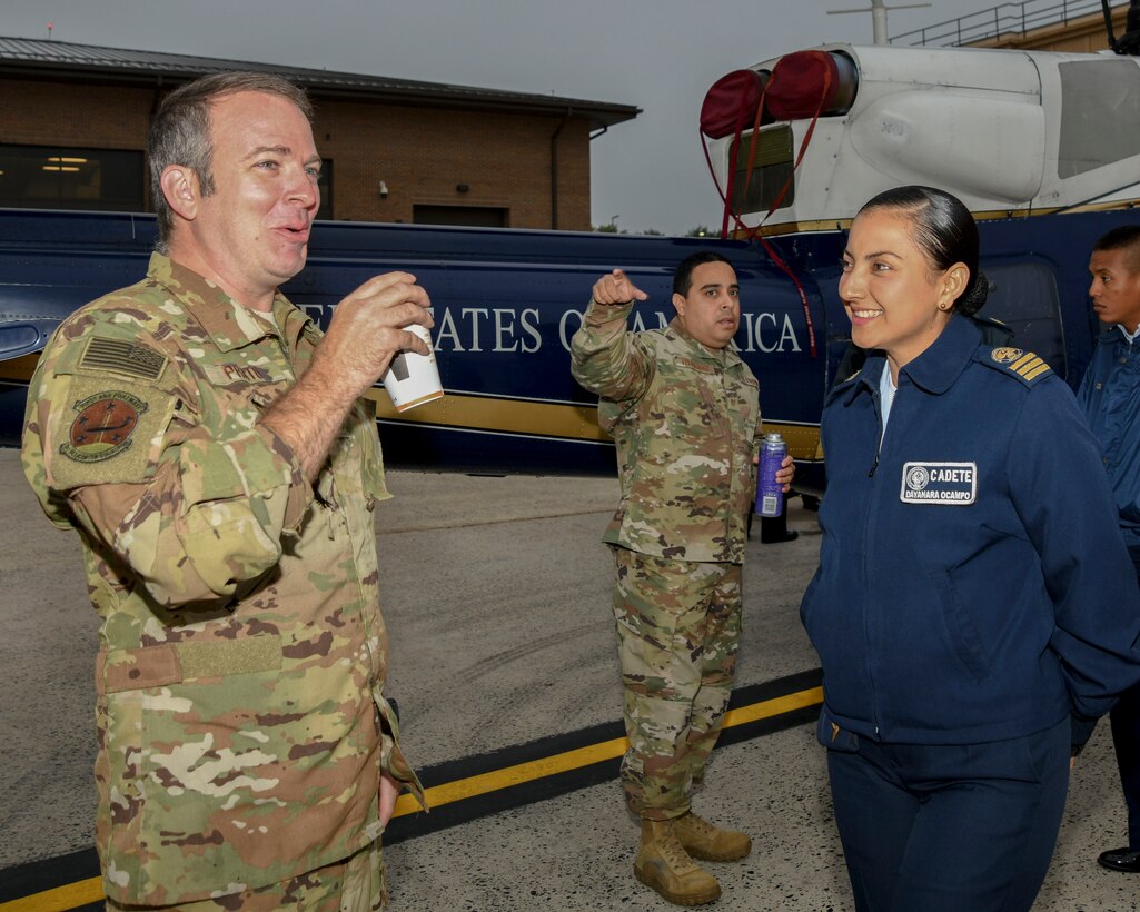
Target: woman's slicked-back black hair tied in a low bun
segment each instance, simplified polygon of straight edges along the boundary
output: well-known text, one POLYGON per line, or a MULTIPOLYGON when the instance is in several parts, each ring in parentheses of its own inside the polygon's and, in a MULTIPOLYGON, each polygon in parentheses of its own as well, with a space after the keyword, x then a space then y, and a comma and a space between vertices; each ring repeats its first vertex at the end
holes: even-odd
POLYGON ((986 302, 990 280, 978 268, 978 226, 962 201, 934 187, 895 187, 864 203, 856 218, 881 209, 901 210, 911 220, 914 243, 926 254, 933 271, 966 263, 970 280, 953 309, 967 316, 977 314, 986 302))

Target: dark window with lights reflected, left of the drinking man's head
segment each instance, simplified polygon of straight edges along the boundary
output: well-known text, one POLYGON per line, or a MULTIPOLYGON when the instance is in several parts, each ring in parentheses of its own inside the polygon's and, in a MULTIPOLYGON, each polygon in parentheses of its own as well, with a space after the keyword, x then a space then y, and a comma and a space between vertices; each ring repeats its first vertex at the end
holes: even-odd
POLYGON ((142 212, 141 152, 0 145, 0 206, 142 212))

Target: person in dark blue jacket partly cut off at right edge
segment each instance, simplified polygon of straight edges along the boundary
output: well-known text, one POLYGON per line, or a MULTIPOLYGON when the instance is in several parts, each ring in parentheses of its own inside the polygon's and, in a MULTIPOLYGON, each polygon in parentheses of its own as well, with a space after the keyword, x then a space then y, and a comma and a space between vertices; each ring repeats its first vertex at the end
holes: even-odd
MULTIPOLYGON (((1089 260, 1092 309, 1108 328, 1077 393, 1089 427, 1104 449, 1121 532, 1140 575, 1140 225, 1114 228, 1089 260)), ((1129 808, 1129 844, 1101 853, 1113 871, 1140 872, 1140 685, 1113 708, 1113 746, 1129 808)))

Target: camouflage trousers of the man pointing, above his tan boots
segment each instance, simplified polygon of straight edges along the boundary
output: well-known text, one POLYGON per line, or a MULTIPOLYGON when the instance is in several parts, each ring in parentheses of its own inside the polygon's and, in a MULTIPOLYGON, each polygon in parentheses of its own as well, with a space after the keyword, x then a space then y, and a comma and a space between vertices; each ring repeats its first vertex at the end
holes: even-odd
POLYGON ((650 820, 689 811, 720 734, 740 643, 741 569, 613 547, 629 750, 621 783, 650 820))

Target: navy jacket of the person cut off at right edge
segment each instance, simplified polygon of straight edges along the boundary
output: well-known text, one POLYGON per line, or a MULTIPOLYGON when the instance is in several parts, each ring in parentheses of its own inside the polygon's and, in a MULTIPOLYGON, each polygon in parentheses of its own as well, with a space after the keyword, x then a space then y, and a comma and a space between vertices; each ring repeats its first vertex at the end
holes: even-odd
POLYGON ((1101 333, 1076 399, 1104 448, 1124 543, 1140 548, 1140 341, 1101 333))

